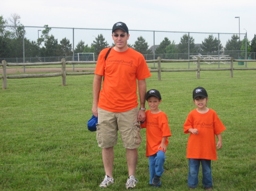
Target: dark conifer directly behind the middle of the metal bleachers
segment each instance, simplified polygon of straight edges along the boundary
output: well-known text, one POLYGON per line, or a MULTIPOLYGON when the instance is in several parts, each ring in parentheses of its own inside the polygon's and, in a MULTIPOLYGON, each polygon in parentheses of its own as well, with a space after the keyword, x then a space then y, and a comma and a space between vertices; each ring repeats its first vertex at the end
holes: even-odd
POLYGON ((221 43, 220 43, 220 46, 218 45, 219 43, 220 42, 217 39, 217 37, 214 38, 213 35, 209 35, 207 39, 204 39, 204 41, 202 41, 201 52, 203 53, 218 52, 218 50, 221 50, 223 48, 221 43))

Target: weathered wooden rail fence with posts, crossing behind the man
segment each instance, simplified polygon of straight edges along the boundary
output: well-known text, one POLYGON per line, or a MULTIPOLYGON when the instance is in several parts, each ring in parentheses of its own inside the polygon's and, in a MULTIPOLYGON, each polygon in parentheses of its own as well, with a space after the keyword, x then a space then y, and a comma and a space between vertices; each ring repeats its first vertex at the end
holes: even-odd
MULTIPOLYGON (((200 71, 207 70, 230 70, 230 77, 233 78, 233 70, 256 70, 256 68, 234 68, 233 62, 256 62, 256 60, 235 60, 232 57, 230 59, 210 59, 205 60, 197 57, 196 61, 196 69, 161 69, 162 62, 195 62, 195 60, 165 60, 158 57, 158 60, 147 60, 147 63, 158 63, 158 69, 151 69, 151 72, 158 73, 158 80, 161 80, 161 72, 162 71, 196 71, 196 78, 200 79, 200 71), (218 69, 201 69, 200 62, 230 62, 229 68, 218 68, 218 69)), ((3 74, 0 75, 0 79, 3 79, 2 89, 7 88, 7 79, 19 79, 19 78, 46 78, 46 77, 62 77, 61 86, 66 86, 66 77, 67 75, 89 75, 94 74, 94 72, 79 72, 79 73, 67 73, 66 65, 76 65, 76 64, 92 64, 97 63, 95 61, 65 61, 65 58, 61 59, 61 62, 42 62, 42 63, 6 63, 5 60, 2 61, 2 70, 3 74), (44 66, 44 65, 61 65, 61 73, 51 73, 51 74, 15 74, 15 75, 7 75, 6 68, 16 67, 16 66, 44 66)))

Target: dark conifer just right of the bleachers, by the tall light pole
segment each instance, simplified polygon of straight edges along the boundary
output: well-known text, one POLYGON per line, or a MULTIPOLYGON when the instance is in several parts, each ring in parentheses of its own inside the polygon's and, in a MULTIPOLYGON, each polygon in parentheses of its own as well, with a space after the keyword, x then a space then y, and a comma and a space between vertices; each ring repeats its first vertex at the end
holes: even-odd
POLYGON ((238 58, 238 53, 234 52, 234 51, 240 51, 241 49, 241 45, 242 45, 242 41, 239 40, 239 36, 238 35, 232 35, 231 40, 228 40, 226 42, 226 46, 225 46, 225 54, 229 54, 230 57, 233 58, 238 58))

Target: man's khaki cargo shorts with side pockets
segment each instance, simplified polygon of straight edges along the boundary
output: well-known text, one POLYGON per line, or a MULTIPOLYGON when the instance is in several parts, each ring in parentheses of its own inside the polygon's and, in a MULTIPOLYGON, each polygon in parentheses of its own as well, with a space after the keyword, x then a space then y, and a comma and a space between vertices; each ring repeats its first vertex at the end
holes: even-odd
POLYGON ((141 127, 137 122, 138 108, 127 112, 114 113, 98 108, 97 142, 101 148, 117 144, 118 131, 123 146, 134 149, 141 145, 141 127))

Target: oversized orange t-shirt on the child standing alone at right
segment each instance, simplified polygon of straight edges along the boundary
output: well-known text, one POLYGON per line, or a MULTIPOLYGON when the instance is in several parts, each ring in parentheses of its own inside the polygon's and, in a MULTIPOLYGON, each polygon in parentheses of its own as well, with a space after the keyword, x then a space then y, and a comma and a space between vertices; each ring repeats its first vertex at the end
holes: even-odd
POLYGON ((199 113, 194 109, 183 125, 184 133, 189 133, 190 128, 197 129, 199 133, 189 135, 187 158, 217 160, 215 135, 226 129, 217 113, 213 109, 207 113, 199 113))

